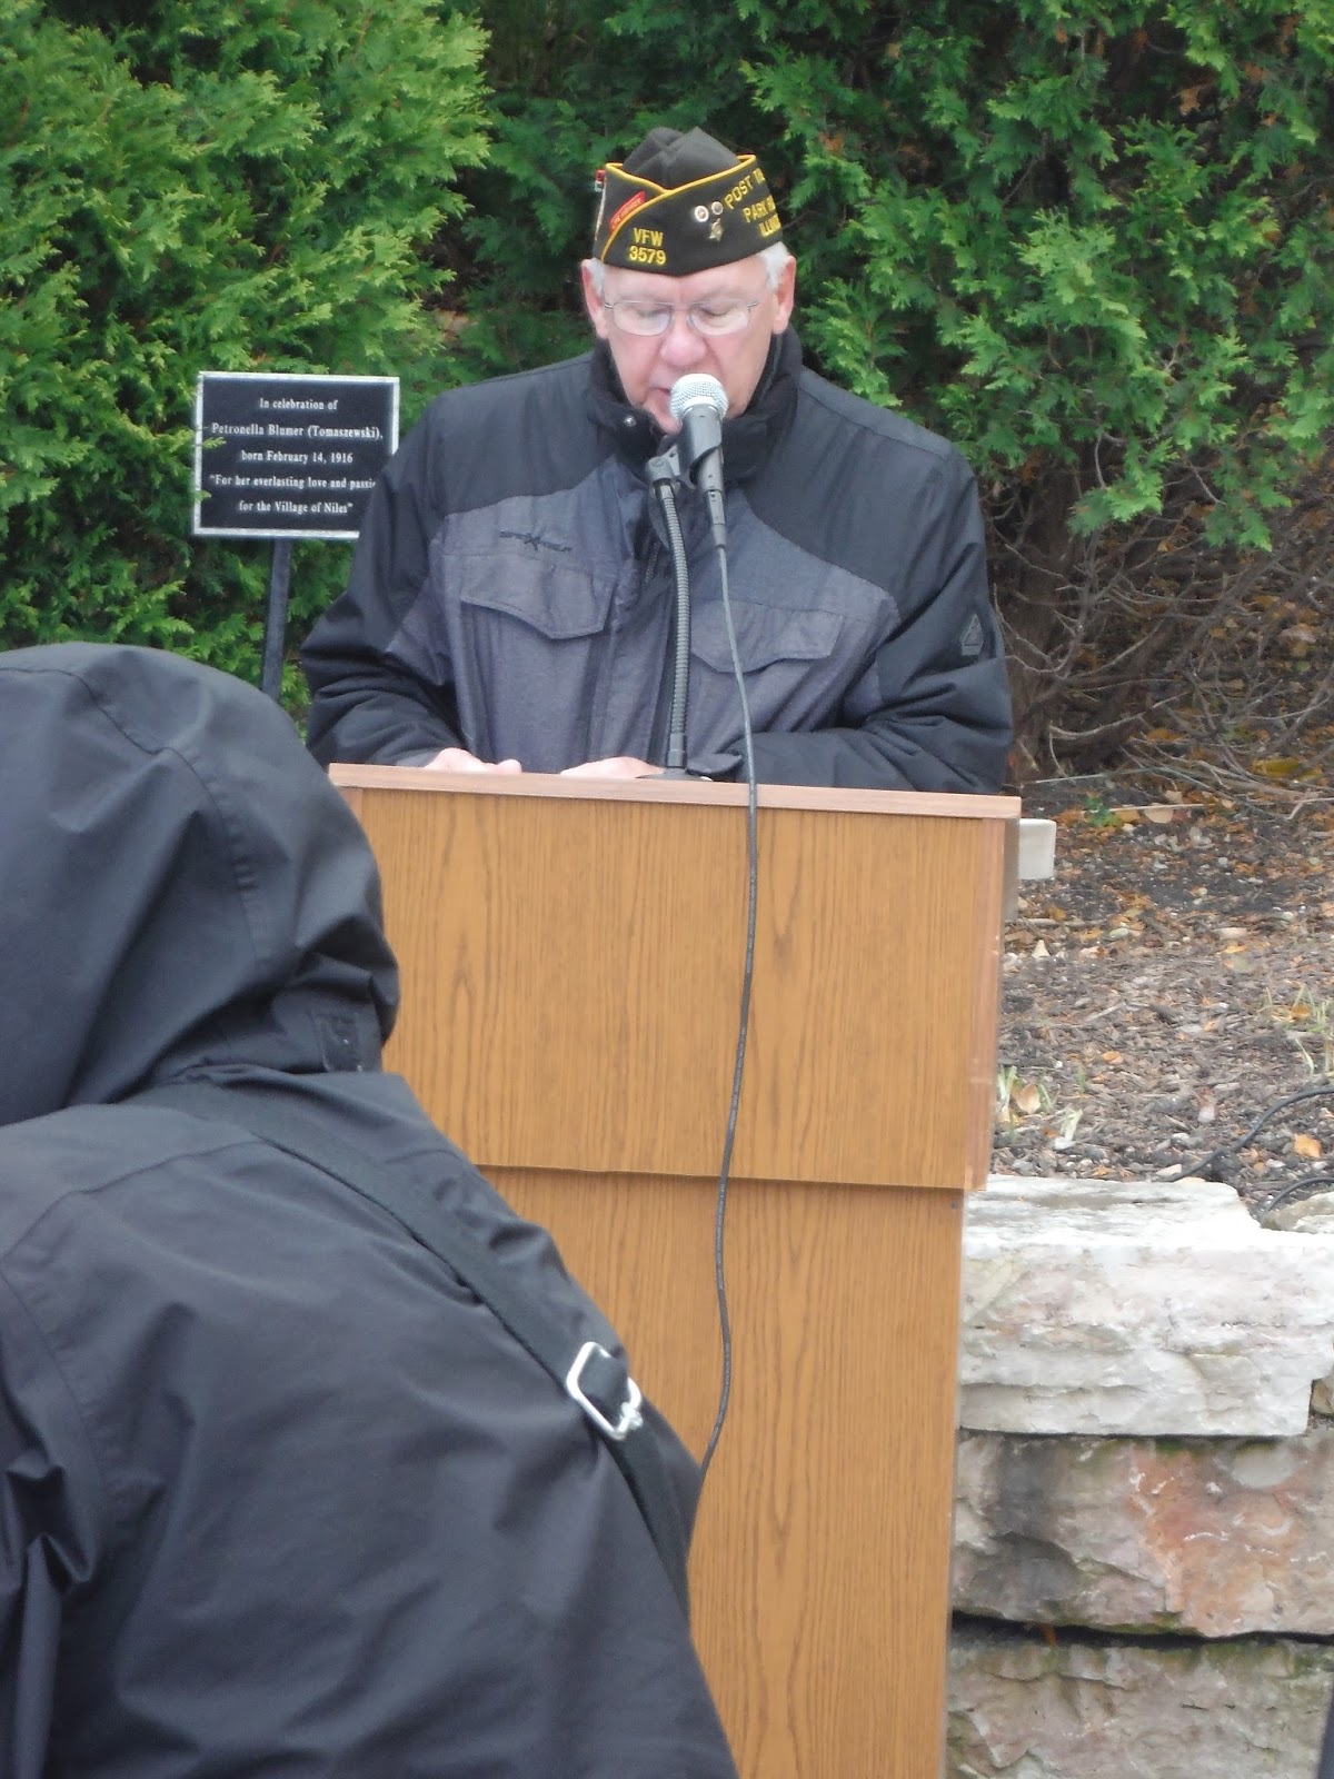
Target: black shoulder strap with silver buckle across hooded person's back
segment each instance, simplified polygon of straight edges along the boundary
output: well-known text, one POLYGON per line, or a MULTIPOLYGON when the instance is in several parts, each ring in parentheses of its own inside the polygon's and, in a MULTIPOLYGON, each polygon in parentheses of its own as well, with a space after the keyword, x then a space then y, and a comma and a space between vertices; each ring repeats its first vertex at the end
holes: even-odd
POLYGON ((174 1107, 196 1117, 222 1119, 286 1155, 309 1162, 390 1211, 425 1249, 457 1272, 598 1429, 630 1484, 681 1610, 690 1615, 687 1583, 690 1541, 658 1436, 639 1413, 640 1393, 623 1359, 592 1340, 571 1345, 569 1334, 553 1327, 516 1288, 509 1268, 461 1229, 432 1197, 413 1192, 404 1179, 372 1174, 366 1156, 343 1146, 334 1149, 322 1131, 286 1107, 272 1107, 260 1094, 242 1094, 208 1082, 151 1087, 135 1094, 132 1103, 174 1107))

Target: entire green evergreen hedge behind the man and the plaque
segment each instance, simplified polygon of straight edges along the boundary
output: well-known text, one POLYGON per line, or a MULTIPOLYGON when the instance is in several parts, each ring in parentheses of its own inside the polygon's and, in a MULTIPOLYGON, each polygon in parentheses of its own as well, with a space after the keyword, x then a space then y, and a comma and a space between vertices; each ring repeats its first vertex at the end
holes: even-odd
MULTIPOLYGON (((397 372, 411 422, 578 350, 594 169, 703 123, 761 153, 808 358, 978 470, 1021 706, 1096 724, 1309 512, 1332 94, 1334 0, 0 0, 0 637, 253 672, 263 546, 185 535, 196 372, 397 372)), ((293 630, 343 569, 299 546, 293 630)))

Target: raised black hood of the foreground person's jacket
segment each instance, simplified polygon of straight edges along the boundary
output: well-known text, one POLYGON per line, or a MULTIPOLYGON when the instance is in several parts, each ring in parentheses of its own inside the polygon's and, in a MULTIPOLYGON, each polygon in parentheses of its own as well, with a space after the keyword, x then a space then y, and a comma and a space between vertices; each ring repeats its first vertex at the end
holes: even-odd
POLYGON ((370 847, 269 697, 158 649, 0 655, 0 1126, 374 1069, 397 989, 370 847))

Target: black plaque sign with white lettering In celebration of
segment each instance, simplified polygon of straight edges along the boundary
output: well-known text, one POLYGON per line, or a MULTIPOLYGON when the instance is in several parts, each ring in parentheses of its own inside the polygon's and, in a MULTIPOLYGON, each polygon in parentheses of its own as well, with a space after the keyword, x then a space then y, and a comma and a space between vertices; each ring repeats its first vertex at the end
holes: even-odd
POLYGON ((397 447, 397 377, 205 370, 194 535, 356 537, 397 447))

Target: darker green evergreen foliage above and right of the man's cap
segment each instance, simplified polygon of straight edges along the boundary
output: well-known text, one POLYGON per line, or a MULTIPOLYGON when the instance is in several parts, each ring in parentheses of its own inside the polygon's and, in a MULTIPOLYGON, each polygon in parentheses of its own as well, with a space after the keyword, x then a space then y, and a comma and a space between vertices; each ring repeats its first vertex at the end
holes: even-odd
POLYGON ((560 295, 589 171, 655 121, 703 119, 763 151, 802 338, 840 382, 992 479, 1078 466, 1081 528, 1154 507, 1204 452, 1211 535, 1266 541, 1334 416, 1325 0, 751 0, 703 18, 571 0, 544 30, 526 7, 484 11, 496 142, 470 233, 477 288, 505 301, 470 340, 478 368, 575 338, 560 295))

